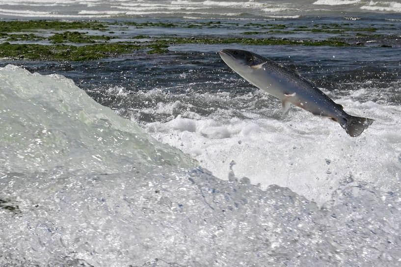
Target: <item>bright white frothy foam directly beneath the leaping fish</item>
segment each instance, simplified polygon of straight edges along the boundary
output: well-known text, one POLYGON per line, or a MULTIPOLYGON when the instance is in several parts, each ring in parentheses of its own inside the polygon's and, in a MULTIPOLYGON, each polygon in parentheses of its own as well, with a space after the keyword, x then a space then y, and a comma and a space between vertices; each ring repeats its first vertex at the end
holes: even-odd
MULTIPOLYGON (((146 129, 192 155, 220 179, 228 179, 229 162, 234 160, 237 177, 265 188, 271 184, 289 187, 319 203, 327 201, 330 188, 348 176, 385 190, 392 183, 385 177, 401 173, 400 167, 394 167, 401 153, 401 137, 396 134, 401 108, 347 99, 339 103, 351 114, 376 121, 357 138, 349 137, 337 123, 299 108, 284 119, 249 112, 243 115, 252 119, 179 115, 166 123, 150 123, 146 129)), ((280 113, 280 107, 266 112, 280 113)))

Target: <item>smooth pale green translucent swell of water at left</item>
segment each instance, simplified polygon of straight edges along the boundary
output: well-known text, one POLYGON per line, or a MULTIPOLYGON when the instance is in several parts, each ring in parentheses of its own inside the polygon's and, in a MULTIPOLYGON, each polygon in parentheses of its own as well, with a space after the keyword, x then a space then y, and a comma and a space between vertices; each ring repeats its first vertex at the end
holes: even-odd
POLYGON ((6 169, 35 172, 63 166, 121 171, 136 164, 128 159, 180 162, 168 156, 160 159, 169 146, 160 146, 135 123, 96 103, 70 79, 7 65, 0 68, 0 80, 4 102, 0 133, 9 136, 0 142, 8 155, 0 165, 6 169))

